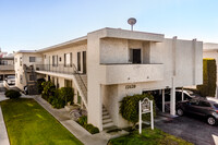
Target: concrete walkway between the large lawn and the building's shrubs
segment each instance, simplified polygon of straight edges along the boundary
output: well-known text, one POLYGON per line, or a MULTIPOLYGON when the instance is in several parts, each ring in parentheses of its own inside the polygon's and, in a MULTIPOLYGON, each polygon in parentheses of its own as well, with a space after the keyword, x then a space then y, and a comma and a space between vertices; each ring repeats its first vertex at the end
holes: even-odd
POLYGON ((70 118, 70 113, 65 109, 55 109, 50 104, 44 100, 40 96, 34 99, 50 112, 63 126, 65 126, 76 138, 85 145, 107 145, 108 138, 102 134, 92 135, 84 128, 77 124, 70 118))

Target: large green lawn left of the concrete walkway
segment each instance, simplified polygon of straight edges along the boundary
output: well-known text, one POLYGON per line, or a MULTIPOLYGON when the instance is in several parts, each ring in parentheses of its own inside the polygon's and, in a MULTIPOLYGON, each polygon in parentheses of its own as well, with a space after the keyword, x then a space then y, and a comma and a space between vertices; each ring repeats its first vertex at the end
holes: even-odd
POLYGON ((11 145, 81 145, 34 99, 0 102, 11 145))

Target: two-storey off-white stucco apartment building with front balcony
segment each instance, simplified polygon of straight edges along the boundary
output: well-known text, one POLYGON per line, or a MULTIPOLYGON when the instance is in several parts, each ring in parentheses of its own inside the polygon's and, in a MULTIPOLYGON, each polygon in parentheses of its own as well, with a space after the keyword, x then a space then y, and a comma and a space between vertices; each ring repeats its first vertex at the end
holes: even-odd
MULTIPOLYGON (((29 65, 23 59, 32 55, 41 58, 34 65, 37 77, 50 80, 58 87, 74 87, 75 104, 87 109, 88 123, 99 130, 130 125, 119 113, 126 95, 170 88, 170 113, 174 116, 175 87, 203 83, 203 43, 196 39, 102 28, 32 53, 20 51, 15 68, 29 65)), ((20 88, 24 85, 16 84, 20 88)))

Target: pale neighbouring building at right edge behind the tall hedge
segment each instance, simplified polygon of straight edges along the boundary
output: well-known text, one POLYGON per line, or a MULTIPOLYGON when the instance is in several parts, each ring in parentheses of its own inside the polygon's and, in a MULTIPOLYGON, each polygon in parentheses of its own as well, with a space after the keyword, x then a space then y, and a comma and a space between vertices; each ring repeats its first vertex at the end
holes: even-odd
MULTIPOLYGON (((214 58, 218 63, 218 44, 205 43, 203 45, 203 58, 214 58)), ((218 84, 218 68, 217 68, 217 84, 218 84)), ((218 87, 215 97, 218 98, 218 87)))

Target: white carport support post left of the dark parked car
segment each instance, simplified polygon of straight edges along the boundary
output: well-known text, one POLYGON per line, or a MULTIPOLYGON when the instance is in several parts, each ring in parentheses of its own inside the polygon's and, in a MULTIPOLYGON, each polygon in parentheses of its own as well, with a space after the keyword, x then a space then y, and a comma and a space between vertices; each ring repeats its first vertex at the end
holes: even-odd
POLYGON ((172 88, 170 90, 170 114, 175 116, 175 87, 174 87, 174 77, 172 77, 172 88))

